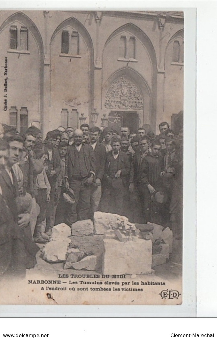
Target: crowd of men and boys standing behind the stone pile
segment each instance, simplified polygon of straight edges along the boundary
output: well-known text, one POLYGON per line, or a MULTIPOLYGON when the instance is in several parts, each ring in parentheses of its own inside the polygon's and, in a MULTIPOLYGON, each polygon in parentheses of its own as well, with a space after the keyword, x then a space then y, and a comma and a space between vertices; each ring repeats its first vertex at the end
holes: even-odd
POLYGON ((43 140, 34 126, 21 135, 0 125, 0 275, 25 276, 54 225, 95 211, 169 226, 181 238, 182 130, 162 122, 159 131, 82 124, 43 140))

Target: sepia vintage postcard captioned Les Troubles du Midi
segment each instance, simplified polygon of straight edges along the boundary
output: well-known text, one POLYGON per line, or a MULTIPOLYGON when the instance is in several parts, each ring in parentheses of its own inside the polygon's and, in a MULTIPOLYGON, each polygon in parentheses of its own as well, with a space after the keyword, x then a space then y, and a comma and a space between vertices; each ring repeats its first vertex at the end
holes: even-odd
POLYGON ((0 11, 0 304, 181 305, 184 12, 0 11))

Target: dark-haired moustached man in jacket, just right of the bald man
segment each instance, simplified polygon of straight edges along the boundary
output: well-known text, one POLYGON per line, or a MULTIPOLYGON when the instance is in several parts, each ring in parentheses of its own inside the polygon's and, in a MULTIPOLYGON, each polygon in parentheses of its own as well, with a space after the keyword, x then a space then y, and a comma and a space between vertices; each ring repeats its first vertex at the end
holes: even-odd
POLYGON ((95 155, 95 176, 94 182, 91 186, 91 210, 92 214, 97 211, 99 206, 99 201, 101 198, 101 182, 104 176, 105 169, 105 158, 106 158, 106 150, 105 147, 99 143, 99 132, 100 129, 98 127, 92 127, 90 129, 90 145, 93 148, 95 155))

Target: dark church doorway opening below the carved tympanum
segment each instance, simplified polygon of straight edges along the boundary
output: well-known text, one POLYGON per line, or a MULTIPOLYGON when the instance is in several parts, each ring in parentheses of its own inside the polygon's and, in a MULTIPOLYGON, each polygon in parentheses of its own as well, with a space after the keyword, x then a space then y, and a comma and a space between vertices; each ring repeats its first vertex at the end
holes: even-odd
POLYGON ((139 127, 139 116, 135 111, 111 111, 108 120, 108 126, 117 131, 128 127, 131 133, 136 133, 139 127))

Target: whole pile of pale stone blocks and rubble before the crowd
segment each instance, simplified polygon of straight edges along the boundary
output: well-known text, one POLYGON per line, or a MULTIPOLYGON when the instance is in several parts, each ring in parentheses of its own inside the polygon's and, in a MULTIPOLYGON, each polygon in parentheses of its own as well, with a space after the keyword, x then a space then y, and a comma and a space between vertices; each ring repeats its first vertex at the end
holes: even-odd
POLYGON ((133 224, 128 218, 95 212, 94 219, 77 221, 71 228, 53 227, 43 250, 49 263, 64 269, 100 271, 103 274, 149 274, 172 252, 172 231, 159 224, 133 224))

